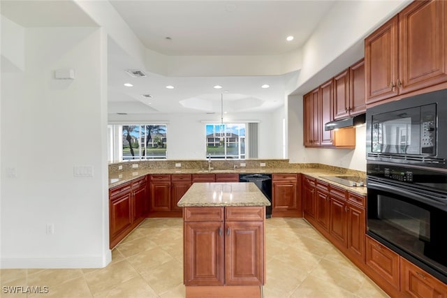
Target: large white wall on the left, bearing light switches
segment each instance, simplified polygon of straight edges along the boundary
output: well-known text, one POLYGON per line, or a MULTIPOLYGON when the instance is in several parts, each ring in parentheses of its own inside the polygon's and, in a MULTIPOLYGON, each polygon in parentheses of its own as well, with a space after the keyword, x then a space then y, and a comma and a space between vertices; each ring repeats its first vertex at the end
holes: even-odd
POLYGON ((103 267, 107 38, 98 28, 29 28, 24 43, 24 71, 1 74, 0 267, 103 267), (59 68, 75 69, 75 80, 54 80, 59 68), (73 177, 78 165, 93 177, 73 177))

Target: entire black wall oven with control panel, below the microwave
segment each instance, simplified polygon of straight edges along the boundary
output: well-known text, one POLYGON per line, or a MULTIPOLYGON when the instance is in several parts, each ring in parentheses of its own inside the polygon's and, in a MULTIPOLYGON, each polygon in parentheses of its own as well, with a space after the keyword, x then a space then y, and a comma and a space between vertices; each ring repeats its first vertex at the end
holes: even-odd
POLYGON ((447 283, 447 172, 367 163, 367 234, 447 283))

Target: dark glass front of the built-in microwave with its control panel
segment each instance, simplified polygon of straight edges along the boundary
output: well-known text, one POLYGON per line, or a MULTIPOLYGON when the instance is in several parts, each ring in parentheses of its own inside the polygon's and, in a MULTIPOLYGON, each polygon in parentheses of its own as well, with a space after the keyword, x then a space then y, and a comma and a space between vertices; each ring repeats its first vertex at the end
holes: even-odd
POLYGON ((436 105, 372 115, 372 152, 436 154, 436 105))

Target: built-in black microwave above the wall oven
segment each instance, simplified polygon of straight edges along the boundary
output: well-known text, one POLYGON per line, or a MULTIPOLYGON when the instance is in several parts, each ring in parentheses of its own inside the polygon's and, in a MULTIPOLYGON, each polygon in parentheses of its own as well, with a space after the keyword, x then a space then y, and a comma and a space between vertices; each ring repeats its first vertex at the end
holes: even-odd
POLYGON ((367 109, 369 161, 447 168, 447 89, 367 109))

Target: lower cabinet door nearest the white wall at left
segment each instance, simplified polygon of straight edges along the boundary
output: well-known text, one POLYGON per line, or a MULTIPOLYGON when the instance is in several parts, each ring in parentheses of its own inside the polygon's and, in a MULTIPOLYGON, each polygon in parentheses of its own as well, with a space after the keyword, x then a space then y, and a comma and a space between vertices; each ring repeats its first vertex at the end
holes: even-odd
POLYGON ((110 198, 110 242, 132 225, 132 193, 121 193, 110 198))

